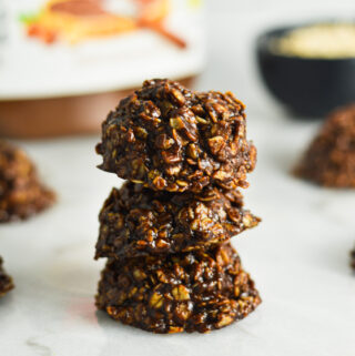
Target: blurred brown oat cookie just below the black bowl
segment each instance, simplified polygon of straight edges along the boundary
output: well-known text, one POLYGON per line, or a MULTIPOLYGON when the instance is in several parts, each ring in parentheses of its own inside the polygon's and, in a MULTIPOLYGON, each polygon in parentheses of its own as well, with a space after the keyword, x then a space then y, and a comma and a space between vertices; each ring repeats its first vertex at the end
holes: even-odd
POLYGON ((329 115, 295 173, 324 186, 355 187, 355 104, 329 115))

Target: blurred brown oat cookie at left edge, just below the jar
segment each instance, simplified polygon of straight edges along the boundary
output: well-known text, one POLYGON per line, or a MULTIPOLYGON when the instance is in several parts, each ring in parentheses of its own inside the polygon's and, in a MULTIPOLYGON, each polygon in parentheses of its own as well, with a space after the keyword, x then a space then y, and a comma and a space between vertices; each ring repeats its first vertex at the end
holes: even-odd
POLYGON ((40 183, 27 154, 0 141, 0 223, 27 218, 53 201, 53 192, 40 183))

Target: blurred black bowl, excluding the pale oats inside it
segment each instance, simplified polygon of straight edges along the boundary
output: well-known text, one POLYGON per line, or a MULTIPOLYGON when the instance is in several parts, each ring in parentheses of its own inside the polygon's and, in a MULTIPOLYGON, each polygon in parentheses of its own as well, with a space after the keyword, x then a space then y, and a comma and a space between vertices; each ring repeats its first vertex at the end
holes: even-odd
POLYGON ((273 53, 273 39, 303 26, 261 34, 257 62, 266 87, 287 109, 302 116, 323 116, 355 101, 355 58, 308 59, 273 53))

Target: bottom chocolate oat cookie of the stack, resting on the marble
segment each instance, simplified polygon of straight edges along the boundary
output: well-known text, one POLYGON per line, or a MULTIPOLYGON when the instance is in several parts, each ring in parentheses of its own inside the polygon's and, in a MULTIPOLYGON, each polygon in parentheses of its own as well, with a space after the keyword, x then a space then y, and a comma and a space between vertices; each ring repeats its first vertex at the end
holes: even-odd
POLYGON ((261 303, 230 243, 206 252, 109 260, 97 306, 153 333, 206 333, 247 316, 261 303))

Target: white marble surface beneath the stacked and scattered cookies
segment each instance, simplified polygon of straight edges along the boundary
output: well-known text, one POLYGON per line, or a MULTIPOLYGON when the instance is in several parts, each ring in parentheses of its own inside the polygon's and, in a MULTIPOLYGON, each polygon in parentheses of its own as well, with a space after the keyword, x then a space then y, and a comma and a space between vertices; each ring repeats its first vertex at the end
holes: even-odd
POLYGON ((348 251, 355 243, 355 192, 320 189, 290 175, 317 123, 292 121, 260 87, 250 40, 262 20, 273 17, 266 7, 252 11, 254 6, 225 14, 212 3, 210 23, 217 21, 217 32, 210 34, 210 63, 197 85, 232 89, 248 108, 258 164, 245 196, 263 223, 234 245, 263 304, 243 322, 209 335, 151 335, 97 313, 93 295, 103 265, 93 261, 97 215, 120 181, 95 169, 98 138, 20 142, 59 202, 31 221, 0 227, 0 253, 17 285, 0 301, 1 356, 354 355, 348 251), (232 35, 215 41, 225 33, 232 35))

